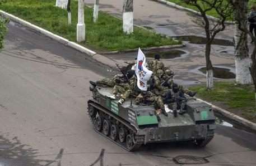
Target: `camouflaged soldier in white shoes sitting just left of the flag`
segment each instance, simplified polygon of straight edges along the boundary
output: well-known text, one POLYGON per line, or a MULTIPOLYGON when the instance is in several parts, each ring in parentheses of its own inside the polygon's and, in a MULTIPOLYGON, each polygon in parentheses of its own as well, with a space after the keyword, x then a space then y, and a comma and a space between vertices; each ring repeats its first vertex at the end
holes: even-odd
POLYGON ((121 99, 118 101, 119 104, 122 104, 125 99, 127 99, 131 94, 132 94, 132 89, 133 89, 133 84, 134 84, 134 70, 129 70, 128 71, 128 82, 127 83, 123 83, 123 84, 118 84, 115 85, 112 91, 112 95, 108 96, 111 99, 115 99, 118 92, 120 94, 123 94, 123 96, 121 97, 121 99))

